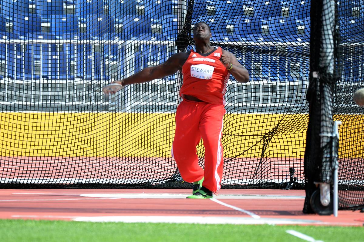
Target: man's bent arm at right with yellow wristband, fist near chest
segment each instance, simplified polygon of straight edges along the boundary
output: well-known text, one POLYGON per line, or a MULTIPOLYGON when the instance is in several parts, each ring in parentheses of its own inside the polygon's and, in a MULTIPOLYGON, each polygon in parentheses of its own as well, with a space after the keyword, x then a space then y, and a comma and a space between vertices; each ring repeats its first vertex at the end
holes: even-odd
POLYGON ((238 82, 248 82, 249 72, 242 66, 233 53, 229 51, 222 50, 221 62, 225 65, 226 69, 235 77, 238 82))

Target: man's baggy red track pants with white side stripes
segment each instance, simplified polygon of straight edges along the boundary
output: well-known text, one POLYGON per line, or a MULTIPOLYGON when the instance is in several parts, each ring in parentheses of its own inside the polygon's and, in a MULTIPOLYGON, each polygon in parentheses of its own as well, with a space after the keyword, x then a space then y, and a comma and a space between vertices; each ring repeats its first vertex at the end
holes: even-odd
POLYGON ((221 187, 224 114, 225 108, 222 104, 189 100, 183 100, 176 113, 172 156, 179 173, 186 182, 199 181, 205 177, 202 185, 214 193, 221 187), (205 147, 205 170, 198 165, 196 150, 201 138, 205 147))

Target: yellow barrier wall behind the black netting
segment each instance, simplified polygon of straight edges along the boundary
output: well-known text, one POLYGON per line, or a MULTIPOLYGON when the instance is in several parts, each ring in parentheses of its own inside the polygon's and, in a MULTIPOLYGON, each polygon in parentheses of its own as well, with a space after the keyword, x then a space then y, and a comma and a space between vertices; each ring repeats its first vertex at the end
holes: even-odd
MULTIPOLYGON (((13 112, 0 119, 1 156, 168 157, 174 134, 174 114, 165 113, 13 112)), ((260 157, 270 140, 266 156, 302 158, 307 122, 307 114, 226 114, 225 157, 260 157)), ((348 127, 340 130, 346 139, 348 127)))

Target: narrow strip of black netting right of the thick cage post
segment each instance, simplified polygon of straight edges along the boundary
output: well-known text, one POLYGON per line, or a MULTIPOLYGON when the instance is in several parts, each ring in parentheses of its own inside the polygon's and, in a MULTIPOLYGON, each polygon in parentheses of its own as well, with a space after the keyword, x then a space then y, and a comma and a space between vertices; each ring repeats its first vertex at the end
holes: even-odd
POLYGON ((364 108, 356 105, 353 93, 364 87, 364 2, 340 1, 338 25, 343 73, 335 86, 334 120, 339 128, 339 207, 364 206, 364 108))

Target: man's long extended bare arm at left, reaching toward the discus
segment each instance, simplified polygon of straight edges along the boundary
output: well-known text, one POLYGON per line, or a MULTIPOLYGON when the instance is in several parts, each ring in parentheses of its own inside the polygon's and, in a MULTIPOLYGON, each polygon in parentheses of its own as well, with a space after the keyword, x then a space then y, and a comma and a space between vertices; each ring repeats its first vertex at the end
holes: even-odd
POLYGON ((188 56, 189 52, 174 54, 160 65, 146 67, 140 72, 131 75, 130 77, 127 77, 123 80, 116 80, 112 83, 119 83, 125 86, 128 84, 143 83, 170 76, 182 68, 182 65, 185 64, 188 56))

